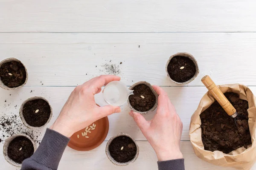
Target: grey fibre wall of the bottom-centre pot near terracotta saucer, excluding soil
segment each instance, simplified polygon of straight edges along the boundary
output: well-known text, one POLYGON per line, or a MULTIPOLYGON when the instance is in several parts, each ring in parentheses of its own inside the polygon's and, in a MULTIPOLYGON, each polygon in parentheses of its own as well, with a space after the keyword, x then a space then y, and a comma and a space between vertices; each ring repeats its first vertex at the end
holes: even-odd
POLYGON ((133 162, 136 161, 136 159, 138 158, 138 156, 139 156, 139 146, 137 145, 137 143, 135 142, 135 140, 134 140, 130 135, 128 135, 127 133, 119 133, 118 135, 113 136, 111 139, 109 139, 109 141, 108 141, 108 143, 107 143, 107 146, 106 146, 106 155, 107 155, 108 159, 109 159, 113 164, 118 165, 118 166, 126 166, 126 165, 128 165, 128 164, 130 164, 130 163, 133 163, 133 162), (135 146, 136 146, 136 148, 137 148, 137 151, 136 151, 136 155, 134 156, 134 159, 132 159, 131 161, 128 161, 128 162, 125 162, 125 163, 120 163, 120 162, 115 161, 115 160, 113 159, 113 157, 110 155, 110 152, 109 152, 109 145, 111 144, 111 142, 113 141, 113 139, 115 139, 115 138, 118 137, 118 136, 127 136, 128 138, 130 138, 130 139, 134 142, 134 144, 135 144, 135 146))

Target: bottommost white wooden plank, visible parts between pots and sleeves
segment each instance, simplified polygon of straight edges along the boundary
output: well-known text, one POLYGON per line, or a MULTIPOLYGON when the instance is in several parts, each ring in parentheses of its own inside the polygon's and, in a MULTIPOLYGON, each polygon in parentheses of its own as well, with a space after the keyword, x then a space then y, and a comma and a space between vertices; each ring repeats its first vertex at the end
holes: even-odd
MULTIPOLYGON (((140 153, 138 159, 125 167, 118 167, 112 164, 106 154, 105 147, 107 142, 103 142, 99 147, 87 152, 79 152, 67 147, 59 164, 59 170, 157 170, 157 156, 147 141, 138 141, 140 153)), ((234 168, 219 167, 209 164, 199 159, 189 141, 181 142, 181 152, 185 159, 186 170, 235 170, 234 168)), ((3 152, 3 142, 0 143, 0 152, 3 152)), ((3 156, 0 156, 1 167, 4 170, 18 170, 7 163, 3 156)), ((256 170, 254 165, 251 170, 256 170)))

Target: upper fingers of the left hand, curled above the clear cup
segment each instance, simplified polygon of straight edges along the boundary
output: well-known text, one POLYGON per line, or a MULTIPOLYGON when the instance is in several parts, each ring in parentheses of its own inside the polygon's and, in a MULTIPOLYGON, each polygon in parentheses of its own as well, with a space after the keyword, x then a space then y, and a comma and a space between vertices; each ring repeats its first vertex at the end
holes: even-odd
POLYGON ((101 75, 99 77, 95 77, 87 82, 87 84, 92 88, 93 95, 97 93, 98 89, 103 85, 107 85, 112 81, 119 81, 121 78, 114 75, 101 75))

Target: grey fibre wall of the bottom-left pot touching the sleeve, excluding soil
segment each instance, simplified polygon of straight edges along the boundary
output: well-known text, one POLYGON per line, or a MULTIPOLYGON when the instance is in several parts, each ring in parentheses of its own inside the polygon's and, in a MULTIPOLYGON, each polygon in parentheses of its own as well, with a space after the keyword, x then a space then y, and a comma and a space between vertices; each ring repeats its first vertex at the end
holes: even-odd
POLYGON ((6 139, 6 141, 5 141, 4 144, 3 144, 3 156, 4 156, 4 159, 5 159, 9 164, 12 164, 12 165, 15 166, 15 167, 21 167, 21 164, 19 164, 19 163, 13 161, 12 159, 10 159, 9 156, 8 156, 7 151, 8 151, 8 147, 9 147, 10 142, 12 142, 12 140, 15 139, 15 138, 18 137, 18 136, 24 136, 24 137, 28 138, 28 139, 32 142, 32 144, 33 144, 34 153, 35 153, 35 150, 36 150, 35 141, 32 140, 29 136, 27 136, 27 135, 25 135, 25 134, 17 134, 17 135, 15 135, 15 136, 12 136, 12 137, 9 137, 8 139, 6 139))

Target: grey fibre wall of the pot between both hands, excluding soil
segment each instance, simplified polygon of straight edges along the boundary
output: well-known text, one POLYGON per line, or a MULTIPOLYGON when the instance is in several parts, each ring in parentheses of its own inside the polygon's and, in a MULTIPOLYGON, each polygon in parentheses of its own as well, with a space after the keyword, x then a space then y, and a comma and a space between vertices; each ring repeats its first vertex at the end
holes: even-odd
MULTIPOLYGON (((152 93, 153 93, 154 96, 155 96, 156 102, 155 102, 154 106, 153 106, 151 109, 149 109, 148 111, 154 111, 154 110, 157 108, 157 104, 158 104, 158 95, 157 95, 157 93, 154 91, 154 88, 153 88, 152 85, 151 85, 150 83, 148 83, 148 82, 137 82, 137 83, 135 83, 134 85, 132 85, 132 86, 129 88, 129 90, 133 90, 133 88, 134 88, 135 86, 137 86, 137 85, 146 85, 146 86, 148 86, 148 87, 151 89, 152 93)), ((143 97, 144 97, 144 96, 143 96, 143 97)), ((138 113, 148 113, 148 111, 137 111, 135 108, 133 108, 132 105, 131 105, 131 102, 130 102, 130 99, 129 99, 129 98, 128 98, 127 102, 128 102, 128 105, 129 105, 129 107, 131 108, 132 111, 135 111, 135 112, 138 112, 138 113)))

